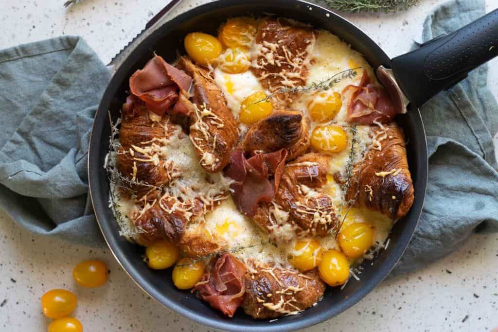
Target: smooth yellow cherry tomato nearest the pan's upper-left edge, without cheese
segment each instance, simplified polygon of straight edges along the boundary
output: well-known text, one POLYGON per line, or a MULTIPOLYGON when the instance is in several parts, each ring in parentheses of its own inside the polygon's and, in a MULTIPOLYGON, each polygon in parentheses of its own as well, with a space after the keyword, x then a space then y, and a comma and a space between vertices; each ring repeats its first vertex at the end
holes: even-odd
POLYGON ((216 37, 203 32, 192 32, 185 36, 187 54, 200 65, 207 65, 222 52, 221 43, 216 37))

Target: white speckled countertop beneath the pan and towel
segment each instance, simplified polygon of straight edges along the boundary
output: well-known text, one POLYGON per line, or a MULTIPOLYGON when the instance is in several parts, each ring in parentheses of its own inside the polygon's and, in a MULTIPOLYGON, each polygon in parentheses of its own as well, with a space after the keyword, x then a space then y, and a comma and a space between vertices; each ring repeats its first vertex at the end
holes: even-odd
MULTIPOLYGON (((165 0, 0 0, 0 48, 59 36, 82 35, 107 63, 165 0)), ((184 0, 175 12, 207 1, 184 0)), ((436 0, 396 15, 346 14, 390 56, 418 39, 436 0)), ((488 0, 488 11, 498 0, 488 0)), ((174 13, 173 13, 174 14, 174 13)), ((498 95, 498 61, 489 84, 498 95)), ((46 331, 40 296, 67 288, 78 296, 75 316, 85 331, 208 331, 142 293, 109 250, 91 249, 35 236, 0 212, 0 330, 46 331), (71 271, 81 260, 99 258, 111 270, 98 290, 76 287, 71 271)), ((458 251, 403 277, 384 281, 341 315, 306 331, 489 331, 498 326, 498 236, 474 235, 458 251)))

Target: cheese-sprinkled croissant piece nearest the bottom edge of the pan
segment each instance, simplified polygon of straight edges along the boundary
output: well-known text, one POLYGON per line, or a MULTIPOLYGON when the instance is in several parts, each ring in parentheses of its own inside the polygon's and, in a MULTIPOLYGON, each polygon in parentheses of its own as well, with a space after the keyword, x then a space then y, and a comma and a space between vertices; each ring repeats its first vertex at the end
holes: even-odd
POLYGON ((325 284, 315 270, 299 273, 280 268, 249 269, 242 308, 255 319, 296 314, 316 303, 325 284))

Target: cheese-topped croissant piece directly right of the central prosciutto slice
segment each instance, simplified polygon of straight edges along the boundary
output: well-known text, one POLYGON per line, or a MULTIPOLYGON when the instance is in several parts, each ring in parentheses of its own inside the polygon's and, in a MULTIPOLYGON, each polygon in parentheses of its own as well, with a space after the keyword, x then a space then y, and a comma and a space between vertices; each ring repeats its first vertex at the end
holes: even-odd
POLYGON ((253 220, 283 242, 290 238, 286 238, 286 232, 278 234, 278 230, 289 225, 299 236, 337 231, 340 223, 332 200, 319 189, 327 181, 327 169, 328 157, 318 153, 307 153, 287 164, 275 198, 259 203, 253 220), (283 221, 278 217, 281 212, 288 214, 283 221))

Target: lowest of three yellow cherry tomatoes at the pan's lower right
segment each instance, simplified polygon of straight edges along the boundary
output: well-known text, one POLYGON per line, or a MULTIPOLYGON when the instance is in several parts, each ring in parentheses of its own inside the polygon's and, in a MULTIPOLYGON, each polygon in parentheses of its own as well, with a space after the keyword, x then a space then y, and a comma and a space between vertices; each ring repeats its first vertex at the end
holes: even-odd
POLYGON ((349 278, 348 258, 340 251, 328 250, 318 264, 318 273, 329 286, 342 285, 349 278))

